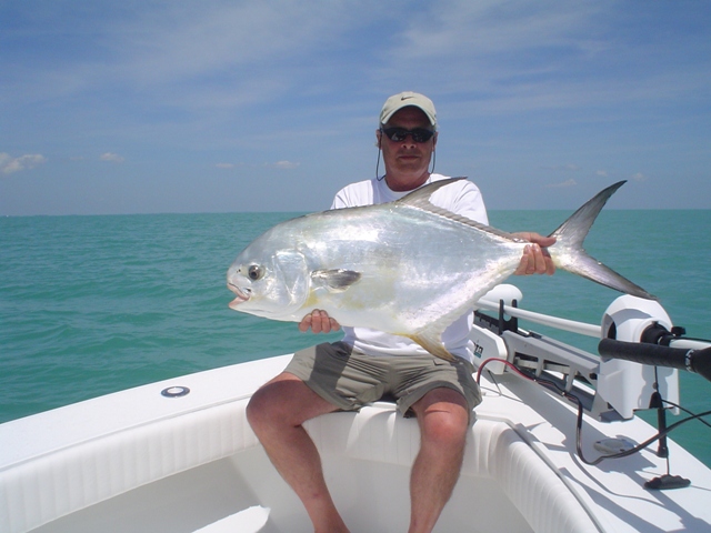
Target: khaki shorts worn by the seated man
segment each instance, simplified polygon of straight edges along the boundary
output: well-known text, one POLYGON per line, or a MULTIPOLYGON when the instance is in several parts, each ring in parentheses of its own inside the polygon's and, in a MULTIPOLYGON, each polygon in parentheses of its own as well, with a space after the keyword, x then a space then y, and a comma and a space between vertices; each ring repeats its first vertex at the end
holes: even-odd
MULTIPOLYGON (((481 403, 473 366, 464 360, 433 355, 371 356, 343 342, 323 343, 294 353, 284 370, 343 411, 358 411, 383 396, 398 401, 403 415, 412 404, 441 386, 459 392, 470 411, 481 403)), ((473 420, 473 416, 471 416, 473 420)))

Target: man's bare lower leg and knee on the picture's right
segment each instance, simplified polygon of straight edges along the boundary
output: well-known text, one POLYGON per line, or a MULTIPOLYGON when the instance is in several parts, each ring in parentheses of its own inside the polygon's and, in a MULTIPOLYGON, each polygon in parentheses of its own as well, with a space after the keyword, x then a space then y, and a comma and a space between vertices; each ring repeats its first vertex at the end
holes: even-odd
POLYGON ((410 533, 430 532, 459 480, 469 409, 452 389, 434 389, 412 405, 420 424, 420 452, 410 475, 410 533))

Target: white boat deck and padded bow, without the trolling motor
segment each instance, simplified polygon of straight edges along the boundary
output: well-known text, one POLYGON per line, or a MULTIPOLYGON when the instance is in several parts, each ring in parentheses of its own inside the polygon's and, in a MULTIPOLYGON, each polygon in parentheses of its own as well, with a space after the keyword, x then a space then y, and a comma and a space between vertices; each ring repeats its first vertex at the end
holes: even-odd
MULTIPOLYGON (((311 531, 244 420, 251 393, 287 361, 187 375, 0 425, 0 531, 311 531), (172 385, 190 393, 162 396, 172 385)), ((497 381, 482 381, 462 476, 435 531, 711 531, 711 472, 673 442, 672 474, 691 486, 648 491, 643 483, 667 471, 653 450, 585 465, 570 405, 514 375, 497 381)), ((417 423, 377 403, 308 430, 351 530, 407 530, 417 423)), ((595 457, 599 439, 653 433, 639 419, 587 416, 583 453, 595 457)))

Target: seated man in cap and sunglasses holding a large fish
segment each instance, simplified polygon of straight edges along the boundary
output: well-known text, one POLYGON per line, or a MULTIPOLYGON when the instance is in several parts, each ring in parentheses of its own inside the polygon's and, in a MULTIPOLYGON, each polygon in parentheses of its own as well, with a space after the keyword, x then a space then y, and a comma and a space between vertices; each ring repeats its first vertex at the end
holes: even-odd
MULTIPOLYGON (((437 114, 430 99, 414 92, 390 97, 375 131, 384 175, 342 189, 333 208, 392 201, 444 179, 429 170, 437 137, 437 114)), ((487 223, 481 194, 470 181, 438 190, 431 201, 487 223)), ((537 233, 519 235, 531 245, 515 273, 552 274, 554 266, 541 247, 551 245, 554 239, 537 233)), ((326 312, 314 310, 299 328, 319 333, 340 325, 326 312)), ((344 328, 343 341, 298 352, 283 373, 254 393, 247 411, 249 422, 279 473, 301 499, 316 532, 348 529, 326 485, 318 450, 302 424, 320 414, 358 410, 383 393, 398 400, 402 414, 417 416, 421 444, 410 477, 410 532, 433 529, 459 477, 472 409, 481 402, 471 375, 470 329, 471 313, 467 313, 445 330, 442 342, 458 358, 433 366, 432 355, 409 339, 344 328), (329 361, 336 362, 330 365, 329 361)))

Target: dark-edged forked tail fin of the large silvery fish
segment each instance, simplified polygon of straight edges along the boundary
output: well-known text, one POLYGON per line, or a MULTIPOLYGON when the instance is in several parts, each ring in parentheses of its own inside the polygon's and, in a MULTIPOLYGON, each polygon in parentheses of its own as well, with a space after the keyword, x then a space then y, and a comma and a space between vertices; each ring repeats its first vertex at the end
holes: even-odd
POLYGON ((624 183, 625 181, 620 181, 608 187, 575 211, 550 234, 555 238, 555 244, 548 250, 557 268, 633 296, 657 300, 657 296, 590 257, 582 247, 598 214, 610 197, 624 183))

